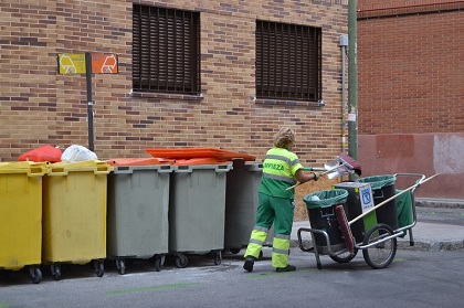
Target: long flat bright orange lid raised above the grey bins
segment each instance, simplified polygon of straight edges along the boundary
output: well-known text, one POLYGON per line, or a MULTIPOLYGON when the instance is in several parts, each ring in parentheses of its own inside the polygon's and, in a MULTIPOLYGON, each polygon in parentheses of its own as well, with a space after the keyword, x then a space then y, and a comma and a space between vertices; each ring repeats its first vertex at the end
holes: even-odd
POLYGON ((145 151, 152 157, 172 158, 172 159, 189 159, 189 158, 215 158, 218 160, 230 161, 234 159, 243 159, 245 161, 253 161, 255 156, 228 151, 220 148, 158 148, 145 149, 145 151))

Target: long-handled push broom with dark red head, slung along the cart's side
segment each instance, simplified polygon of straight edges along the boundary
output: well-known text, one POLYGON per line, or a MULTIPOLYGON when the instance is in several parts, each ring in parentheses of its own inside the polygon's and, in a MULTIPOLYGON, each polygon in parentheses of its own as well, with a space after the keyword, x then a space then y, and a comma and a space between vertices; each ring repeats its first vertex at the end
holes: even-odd
POLYGON ((436 176, 439 176, 440 173, 433 174, 432 177, 424 179, 415 184, 413 184, 412 187, 409 187, 402 191, 400 191, 399 193, 388 198, 387 200, 380 202, 379 204, 377 204, 376 206, 369 209, 368 211, 363 212, 362 214, 360 214, 359 216, 352 219, 351 221, 348 222, 347 220, 347 215, 345 214, 345 210, 344 210, 344 205, 337 205, 335 206, 335 215, 337 217, 338 221, 338 225, 340 226, 340 231, 341 234, 345 237, 345 244, 347 245, 347 249, 348 252, 352 255, 355 254, 355 237, 352 236, 351 233, 351 229, 350 225, 354 224, 355 222, 359 221, 360 219, 362 219, 363 216, 366 216, 367 214, 371 213, 372 211, 376 211, 377 209, 379 209, 380 206, 389 203, 391 200, 398 198, 399 195, 407 193, 411 190, 413 190, 414 188, 420 187, 421 184, 432 180, 433 178, 435 178, 436 176))

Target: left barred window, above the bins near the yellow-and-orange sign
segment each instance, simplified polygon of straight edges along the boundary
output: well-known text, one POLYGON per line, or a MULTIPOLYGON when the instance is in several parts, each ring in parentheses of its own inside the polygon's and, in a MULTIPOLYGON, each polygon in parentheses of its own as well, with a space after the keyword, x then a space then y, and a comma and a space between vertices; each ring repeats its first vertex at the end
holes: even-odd
POLYGON ((200 93, 200 14, 134 4, 133 87, 200 93))

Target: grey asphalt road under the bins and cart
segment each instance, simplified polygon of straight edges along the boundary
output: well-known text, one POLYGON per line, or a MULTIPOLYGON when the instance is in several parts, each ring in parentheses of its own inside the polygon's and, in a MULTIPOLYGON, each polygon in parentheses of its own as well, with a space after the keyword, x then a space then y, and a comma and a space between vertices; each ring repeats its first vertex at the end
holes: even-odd
MULTIPOLYGON (((106 264, 95 276, 89 265, 62 268, 53 280, 43 268, 34 285, 25 270, 0 275, 0 307, 463 307, 463 251, 398 251, 388 268, 372 269, 362 253, 338 264, 321 256, 316 268, 312 253, 292 248, 293 273, 271 267, 270 248, 253 273, 242 268, 243 251, 224 255, 221 265, 205 256, 189 256, 186 268, 167 258, 161 272, 147 261, 127 265, 119 275, 106 264)), ((4 273, 3 273, 4 274, 4 273)))

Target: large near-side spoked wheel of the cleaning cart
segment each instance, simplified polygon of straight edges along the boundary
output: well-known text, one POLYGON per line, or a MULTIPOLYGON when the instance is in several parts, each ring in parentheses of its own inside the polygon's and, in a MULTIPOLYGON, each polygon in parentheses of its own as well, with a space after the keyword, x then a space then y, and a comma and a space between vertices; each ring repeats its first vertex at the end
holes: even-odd
MULTIPOLYGON (((380 223, 371 227, 366 233, 363 245, 379 242, 380 240, 393 234, 391 226, 380 223)), ((393 261, 397 254, 397 237, 362 249, 362 255, 367 264, 375 269, 386 268, 393 261)))

